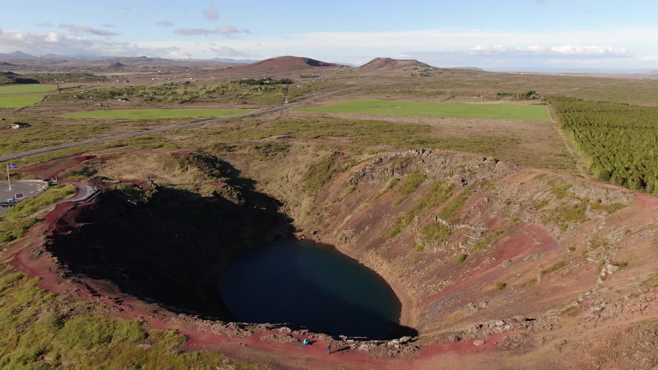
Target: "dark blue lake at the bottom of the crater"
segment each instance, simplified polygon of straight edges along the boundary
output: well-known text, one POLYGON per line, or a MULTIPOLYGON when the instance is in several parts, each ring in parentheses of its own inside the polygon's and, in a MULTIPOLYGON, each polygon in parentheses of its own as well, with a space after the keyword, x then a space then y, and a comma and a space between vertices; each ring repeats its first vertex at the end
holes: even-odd
POLYGON ((290 323, 333 335, 388 338, 401 305, 386 281, 331 246, 284 240, 222 277, 222 300, 249 323, 290 323))

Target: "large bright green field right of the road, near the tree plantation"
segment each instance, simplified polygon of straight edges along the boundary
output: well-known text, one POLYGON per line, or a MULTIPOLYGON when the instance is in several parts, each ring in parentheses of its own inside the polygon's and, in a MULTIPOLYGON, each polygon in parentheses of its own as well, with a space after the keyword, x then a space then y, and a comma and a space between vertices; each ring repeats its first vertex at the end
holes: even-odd
POLYGON ((302 110, 355 115, 429 116, 462 119, 549 119, 548 110, 545 106, 519 104, 425 103, 420 101, 351 99, 339 101, 326 107, 302 110))

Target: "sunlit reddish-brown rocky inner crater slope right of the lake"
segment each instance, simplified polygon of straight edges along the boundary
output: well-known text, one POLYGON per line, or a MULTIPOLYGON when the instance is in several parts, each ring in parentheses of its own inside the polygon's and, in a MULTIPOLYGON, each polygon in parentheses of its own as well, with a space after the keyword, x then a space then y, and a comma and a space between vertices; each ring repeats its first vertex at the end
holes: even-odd
POLYGON ((318 199, 311 234, 386 277, 424 335, 567 309, 655 268, 655 199, 475 155, 377 158, 318 199))

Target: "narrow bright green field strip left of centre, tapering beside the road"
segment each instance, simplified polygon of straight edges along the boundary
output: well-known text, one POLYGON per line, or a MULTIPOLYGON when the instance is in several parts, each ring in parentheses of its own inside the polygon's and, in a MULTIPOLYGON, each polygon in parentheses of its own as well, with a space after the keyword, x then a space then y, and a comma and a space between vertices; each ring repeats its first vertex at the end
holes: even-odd
POLYGON ((230 117, 255 112, 255 109, 115 109, 84 111, 61 115, 68 119, 190 119, 200 117, 230 117))

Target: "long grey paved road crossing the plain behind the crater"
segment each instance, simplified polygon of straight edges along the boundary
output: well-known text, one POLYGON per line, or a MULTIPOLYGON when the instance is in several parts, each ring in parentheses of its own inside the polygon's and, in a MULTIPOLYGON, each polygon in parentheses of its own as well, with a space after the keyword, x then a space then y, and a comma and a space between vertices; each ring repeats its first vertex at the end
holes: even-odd
MULTIPOLYGON (((477 74, 475 76, 470 76, 470 77, 457 76, 455 78, 444 78, 442 81, 471 80, 473 78, 488 76, 490 74, 493 74, 493 73, 477 74)), ((151 130, 130 132, 128 134, 113 135, 113 136, 107 136, 105 138, 84 140, 82 142, 61 144, 61 145, 55 145, 55 146, 51 146, 51 147, 43 147, 41 149, 23 151, 22 153, 14 153, 14 154, 1 156, 0 157, 0 163, 5 162, 5 161, 11 161, 12 159, 27 157, 28 155, 46 153, 48 151, 66 149, 66 148, 69 148, 69 147, 76 147, 76 146, 88 145, 88 144, 97 144, 97 143, 107 142, 109 140, 125 139, 125 138, 132 138, 134 136, 155 134, 155 133, 158 133, 158 132, 165 132, 165 131, 169 131, 169 130, 177 130, 178 128, 188 128, 188 127, 193 127, 193 126, 201 126, 202 124, 207 124, 207 123, 212 123, 212 122, 221 122, 221 121, 224 121, 224 120, 241 119, 241 118, 245 118, 245 117, 255 117, 255 116, 259 116, 259 115, 266 115, 268 113, 283 111, 285 109, 291 109, 291 108, 297 107, 297 105, 300 105, 302 103, 311 103, 312 101, 318 101, 318 100, 326 99, 327 97, 332 97, 332 96, 338 95, 340 93, 349 92, 350 90, 356 90, 356 89, 360 89, 360 88, 368 88, 368 87, 372 87, 372 86, 394 85, 394 84, 399 84, 399 83, 400 82, 383 82, 383 83, 378 83, 378 84, 366 84, 366 85, 359 85, 359 86, 351 86, 349 88, 336 90, 334 92, 325 93, 325 94, 318 95, 318 96, 315 96, 315 97, 309 97, 308 99, 295 101, 295 103, 284 103, 284 104, 278 105, 276 107, 271 107, 271 108, 268 108, 268 109, 264 109, 263 111, 246 113, 244 115, 237 115, 237 116, 231 116, 231 117, 221 117, 221 118, 207 119, 207 120, 199 120, 199 121, 195 121, 195 122, 187 122, 187 123, 182 123, 182 124, 174 124, 172 126, 153 128, 151 130)))

